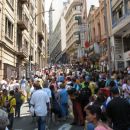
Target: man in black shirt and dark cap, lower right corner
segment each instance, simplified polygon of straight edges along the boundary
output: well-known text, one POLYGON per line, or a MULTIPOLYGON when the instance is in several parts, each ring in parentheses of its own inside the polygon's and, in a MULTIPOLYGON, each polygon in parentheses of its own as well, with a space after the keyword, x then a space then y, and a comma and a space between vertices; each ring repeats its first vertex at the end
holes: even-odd
POLYGON ((113 99, 107 106, 107 115, 112 121, 114 130, 129 130, 130 128, 130 104, 119 95, 119 89, 111 89, 113 99))

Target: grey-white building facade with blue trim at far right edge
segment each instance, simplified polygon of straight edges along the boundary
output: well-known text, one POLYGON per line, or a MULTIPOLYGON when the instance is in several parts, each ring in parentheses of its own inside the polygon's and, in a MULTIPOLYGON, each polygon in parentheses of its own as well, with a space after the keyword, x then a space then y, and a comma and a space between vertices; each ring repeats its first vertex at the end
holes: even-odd
POLYGON ((130 66, 130 0, 111 0, 115 69, 130 66))

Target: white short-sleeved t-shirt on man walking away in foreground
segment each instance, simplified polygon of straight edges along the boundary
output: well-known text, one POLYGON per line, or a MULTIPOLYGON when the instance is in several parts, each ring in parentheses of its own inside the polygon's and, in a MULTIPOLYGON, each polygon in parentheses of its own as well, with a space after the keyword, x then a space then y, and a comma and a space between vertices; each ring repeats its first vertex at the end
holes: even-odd
POLYGON ((49 103, 49 97, 42 89, 36 90, 32 94, 30 104, 34 105, 36 116, 47 115, 47 103, 49 103))

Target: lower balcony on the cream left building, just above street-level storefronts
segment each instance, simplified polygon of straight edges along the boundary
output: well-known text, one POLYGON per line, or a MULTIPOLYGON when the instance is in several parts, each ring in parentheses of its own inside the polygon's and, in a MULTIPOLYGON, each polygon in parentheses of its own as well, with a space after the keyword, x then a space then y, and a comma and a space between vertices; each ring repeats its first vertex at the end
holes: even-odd
POLYGON ((17 55, 20 58, 27 58, 28 57, 28 48, 26 46, 19 47, 17 55))

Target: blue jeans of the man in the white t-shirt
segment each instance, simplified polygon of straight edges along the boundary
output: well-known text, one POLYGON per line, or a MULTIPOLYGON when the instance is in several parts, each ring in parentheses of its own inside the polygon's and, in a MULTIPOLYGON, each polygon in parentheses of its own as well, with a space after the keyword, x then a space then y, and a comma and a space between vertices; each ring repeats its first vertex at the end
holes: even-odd
POLYGON ((46 117, 39 116, 38 117, 38 130, 45 130, 46 117))

